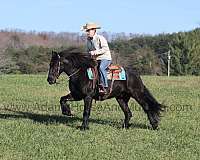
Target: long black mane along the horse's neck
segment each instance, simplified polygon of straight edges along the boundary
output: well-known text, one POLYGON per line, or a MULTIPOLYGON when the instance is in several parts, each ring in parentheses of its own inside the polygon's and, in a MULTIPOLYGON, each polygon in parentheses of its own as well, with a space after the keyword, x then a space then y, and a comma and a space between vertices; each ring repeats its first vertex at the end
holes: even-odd
POLYGON ((82 52, 76 47, 63 50, 59 55, 70 60, 76 68, 90 68, 97 65, 96 60, 94 60, 89 53, 82 52))

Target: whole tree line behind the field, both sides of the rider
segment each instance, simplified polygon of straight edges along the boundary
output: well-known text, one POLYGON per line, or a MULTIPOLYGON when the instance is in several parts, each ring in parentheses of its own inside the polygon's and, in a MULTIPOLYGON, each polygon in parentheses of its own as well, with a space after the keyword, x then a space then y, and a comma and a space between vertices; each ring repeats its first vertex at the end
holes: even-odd
MULTIPOLYGON (((5 32, 5 31, 4 31, 5 32)), ((1 37, 0 32, 0 37, 1 37)), ((10 32, 8 32, 10 33, 10 32)), ((7 35, 9 35, 7 33, 7 35)), ((15 32, 1 47, 0 73, 47 72, 52 50, 75 46, 85 50, 85 35, 79 33, 15 32), (23 35, 23 36, 22 36, 23 35), (35 39, 30 43, 30 39, 35 39), (36 43, 37 42, 37 43, 36 43)), ((172 75, 200 75, 200 29, 159 35, 102 32, 112 51, 113 63, 135 68, 140 74, 166 75, 171 53, 172 75)), ((8 37, 5 37, 8 38, 8 37)))

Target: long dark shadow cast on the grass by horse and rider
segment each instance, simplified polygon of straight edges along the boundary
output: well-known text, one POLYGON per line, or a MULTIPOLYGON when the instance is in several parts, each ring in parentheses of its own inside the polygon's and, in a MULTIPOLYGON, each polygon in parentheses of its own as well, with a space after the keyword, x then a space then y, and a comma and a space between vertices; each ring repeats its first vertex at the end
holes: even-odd
MULTIPOLYGON (((66 126, 77 128, 76 122, 82 122, 82 118, 80 117, 68 117, 64 115, 50 115, 50 114, 38 114, 32 112, 22 112, 22 111, 14 111, 14 110, 4 110, 9 113, 0 113, 0 119, 30 119, 36 123, 51 125, 51 124, 64 124, 66 126)), ((109 120, 101 120, 101 119, 89 119, 90 123, 100 124, 100 125, 109 125, 115 127, 117 129, 122 128, 122 123, 116 121, 109 120)), ((130 124, 130 128, 140 128, 140 129, 149 129, 145 124, 130 124)))

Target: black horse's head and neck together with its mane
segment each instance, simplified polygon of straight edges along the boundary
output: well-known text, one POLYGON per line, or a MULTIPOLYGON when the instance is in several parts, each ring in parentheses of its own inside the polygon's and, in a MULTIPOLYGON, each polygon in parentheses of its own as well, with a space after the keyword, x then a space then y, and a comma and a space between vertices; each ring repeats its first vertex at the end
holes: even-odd
POLYGON ((77 74, 80 69, 84 70, 96 65, 96 60, 88 53, 78 52, 73 48, 59 53, 52 52, 47 81, 49 84, 54 84, 62 72, 72 77, 77 74))

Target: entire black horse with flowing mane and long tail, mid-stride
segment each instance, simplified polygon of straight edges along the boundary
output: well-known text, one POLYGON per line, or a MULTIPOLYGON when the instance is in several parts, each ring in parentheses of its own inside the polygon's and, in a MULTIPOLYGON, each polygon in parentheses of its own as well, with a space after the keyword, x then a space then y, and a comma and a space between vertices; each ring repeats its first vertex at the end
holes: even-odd
MULTIPOLYGON (((92 100, 99 100, 97 89, 93 87, 93 81, 89 80, 87 75, 87 68, 96 65, 97 62, 89 54, 78 52, 76 49, 52 52, 47 81, 54 84, 62 72, 68 75, 70 93, 61 97, 61 110, 62 114, 70 116, 72 113, 68 102, 84 100, 81 130, 88 129, 92 100)), ((134 69, 125 68, 125 71, 127 80, 114 81, 112 92, 101 100, 116 98, 125 115, 123 127, 128 128, 132 117, 128 102, 131 97, 134 98, 147 114, 152 128, 157 129, 164 106, 152 96, 134 69)))

